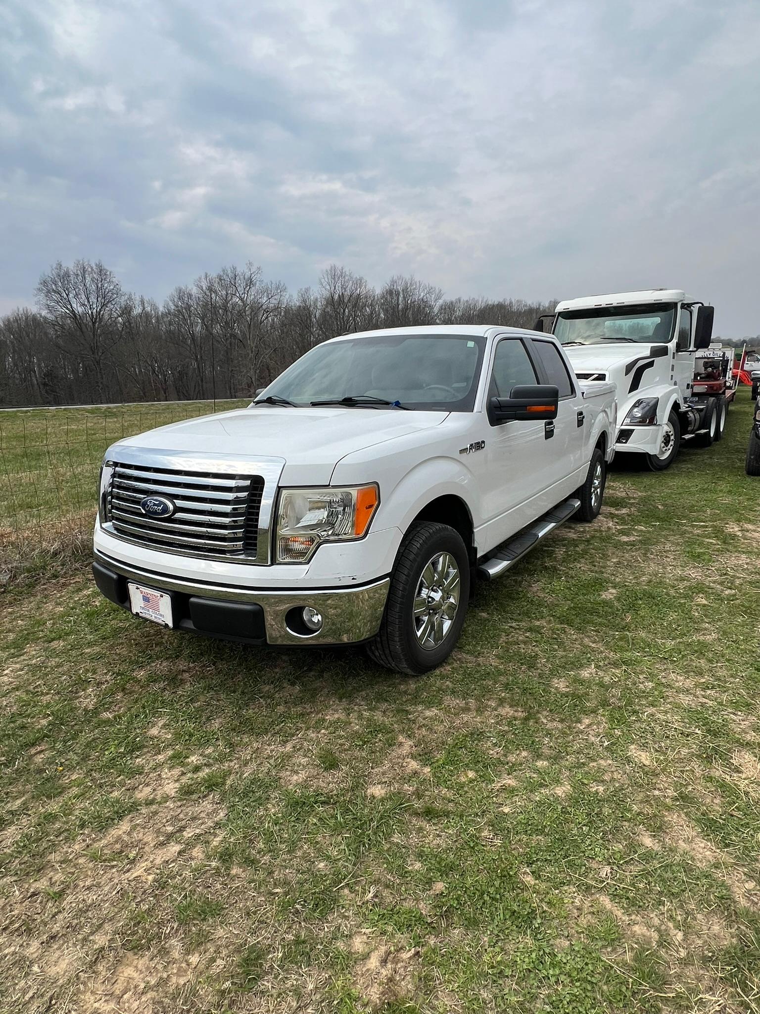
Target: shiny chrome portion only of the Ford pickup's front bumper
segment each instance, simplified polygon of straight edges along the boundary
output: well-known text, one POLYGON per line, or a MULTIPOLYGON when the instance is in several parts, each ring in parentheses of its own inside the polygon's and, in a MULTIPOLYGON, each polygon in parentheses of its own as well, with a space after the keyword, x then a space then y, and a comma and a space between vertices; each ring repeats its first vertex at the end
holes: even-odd
MULTIPOLYGON (((359 588, 271 591, 182 581, 164 574, 154 574, 151 571, 131 567, 97 551, 95 551, 95 562, 128 580, 145 584, 156 591, 171 591, 188 597, 258 605, 263 611, 267 643, 272 645, 337 645, 369 640, 380 629, 390 585, 390 578, 386 577, 359 588), (319 631, 297 633, 291 628, 288 613, 291 610, 303 609, 304 606, 311 606, 321 614, 323 625, 319 631)), ((198 633, 208 632, 199 629, 198 633)))

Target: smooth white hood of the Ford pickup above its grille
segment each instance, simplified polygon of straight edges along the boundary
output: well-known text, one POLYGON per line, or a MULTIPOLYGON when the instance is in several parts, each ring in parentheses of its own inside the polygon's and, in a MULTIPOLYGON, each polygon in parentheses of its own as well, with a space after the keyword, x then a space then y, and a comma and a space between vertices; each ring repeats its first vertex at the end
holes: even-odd
MULTIPOLYGON (((325 407, 251 407, 160 426, 111 448, 196 451, 230 457, 285 459, 283 482, 325 484, 335 464, 357 450, 440 426, 447 412, 325 407)), ((109 451, 110 453, 110 451, 109 451)))

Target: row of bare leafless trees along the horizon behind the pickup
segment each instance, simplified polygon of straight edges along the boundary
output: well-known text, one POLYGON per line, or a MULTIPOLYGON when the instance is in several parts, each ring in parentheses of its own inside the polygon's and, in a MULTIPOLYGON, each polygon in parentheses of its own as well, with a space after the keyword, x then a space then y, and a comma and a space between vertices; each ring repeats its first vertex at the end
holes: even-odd
POLYGON ((0 405, 248 397, 335 335, 435 323, 530 328, 553 308, 444 299, 413 277, 376 289, 336 265, 315 289, 293 294, 250 263, 202 275, 159 305, 125 291, 99 261, 59 262, 35 296, 35 310, 0 319, 0 405))

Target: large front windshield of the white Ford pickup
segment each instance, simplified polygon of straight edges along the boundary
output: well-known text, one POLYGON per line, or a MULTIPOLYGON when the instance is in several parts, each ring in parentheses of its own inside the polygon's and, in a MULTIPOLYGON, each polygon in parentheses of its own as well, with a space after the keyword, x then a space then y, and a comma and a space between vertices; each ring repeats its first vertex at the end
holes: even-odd
MULTIPOLYGON (((407 409, 471 412, 485 339, 378 335, 317 345, 263 390, 297 406, 367 397, 407 409)), ((378 407, 378 404, 375 404, 378 407)), ((379 406, 383 408, 382 405, 379 406)))

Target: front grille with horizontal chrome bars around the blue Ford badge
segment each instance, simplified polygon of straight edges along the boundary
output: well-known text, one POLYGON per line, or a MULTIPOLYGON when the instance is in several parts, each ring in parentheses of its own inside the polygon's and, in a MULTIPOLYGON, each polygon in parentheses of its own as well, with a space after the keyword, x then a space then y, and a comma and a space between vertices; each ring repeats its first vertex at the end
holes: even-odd
POLYGON ((249 562, 258 549, 262 495, 260 476, 116 463, 107 520, 115 534, 154 550, 249 562), (147 500, 163 516, 146 513, 155 506, 147 500))

